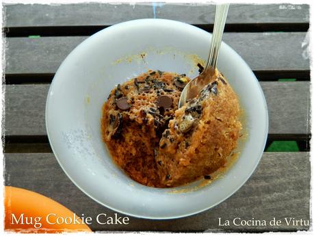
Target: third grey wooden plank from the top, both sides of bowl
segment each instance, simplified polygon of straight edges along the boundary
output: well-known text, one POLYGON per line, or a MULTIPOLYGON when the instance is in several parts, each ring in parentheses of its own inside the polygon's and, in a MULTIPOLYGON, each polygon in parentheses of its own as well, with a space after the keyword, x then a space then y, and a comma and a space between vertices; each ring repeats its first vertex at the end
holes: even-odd
MULTIPOLYGON (((261 82, 272 137, 298 138, 309 130, 309 82, 261 82)), ((49 84, 5 86, 5 135, 47 135, 44 109, 49 84)))

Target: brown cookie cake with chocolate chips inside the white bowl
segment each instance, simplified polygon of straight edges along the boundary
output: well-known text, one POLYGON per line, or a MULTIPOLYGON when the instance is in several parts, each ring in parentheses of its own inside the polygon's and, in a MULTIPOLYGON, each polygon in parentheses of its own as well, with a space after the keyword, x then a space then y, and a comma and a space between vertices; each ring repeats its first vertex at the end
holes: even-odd
POLYGON ((114 161, 138 183, 175 187, 223 167, 241 131, 239 102, 216 79, 178 109, 185 75, 148 70, 119 84, 103 105, 101 131, 114 161))

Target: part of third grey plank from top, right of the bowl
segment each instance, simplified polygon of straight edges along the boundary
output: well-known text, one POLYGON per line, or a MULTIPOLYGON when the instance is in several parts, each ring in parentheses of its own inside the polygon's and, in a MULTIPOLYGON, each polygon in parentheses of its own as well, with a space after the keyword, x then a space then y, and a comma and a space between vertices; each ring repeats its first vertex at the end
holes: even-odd
POLYGON ((265 94, 269 137, 304 139, 310 128, 309 82, 261 82, 265 94))

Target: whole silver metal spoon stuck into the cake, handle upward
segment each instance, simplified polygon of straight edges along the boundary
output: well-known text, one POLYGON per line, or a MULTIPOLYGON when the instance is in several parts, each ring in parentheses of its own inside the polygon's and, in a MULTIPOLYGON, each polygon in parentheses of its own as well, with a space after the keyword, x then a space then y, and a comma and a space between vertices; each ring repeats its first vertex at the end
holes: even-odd
POLYGON ((183 89, 179 100, 179 108, 182 107, 187 100, 196 97, 204 86, 215 79, 215 68, 218 60, 220 44, 222 42, 222 34, 224 33, 228 8, 229 3, 216 5, 213 36, 211 38, 211 51, 209 52, 207 65, 202 73, 200 73, 198 77, 189 81, 183 89))

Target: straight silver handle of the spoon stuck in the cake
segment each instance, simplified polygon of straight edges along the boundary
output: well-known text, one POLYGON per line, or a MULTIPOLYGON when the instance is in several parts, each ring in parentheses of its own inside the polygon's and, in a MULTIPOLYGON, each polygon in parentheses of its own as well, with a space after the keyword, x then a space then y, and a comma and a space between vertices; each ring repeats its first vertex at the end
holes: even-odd
POLYGON ((229 3, 216 5, 215 23, 213 24, 213 36, 211 38, 211 51, 207 60, 206 68, 216 68, 218 52, 222 43, 222 34, 224 33, 224 24, 228 14, 229 3))

